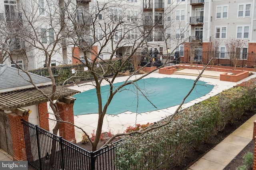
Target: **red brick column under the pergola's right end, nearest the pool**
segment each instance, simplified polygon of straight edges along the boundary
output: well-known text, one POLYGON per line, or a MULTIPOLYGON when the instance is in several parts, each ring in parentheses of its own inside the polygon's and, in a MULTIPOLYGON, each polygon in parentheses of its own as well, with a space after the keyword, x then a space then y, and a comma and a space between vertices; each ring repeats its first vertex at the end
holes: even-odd
MULTIPOLYGON (((72 124, 74 124, 73 105, 74 104, 66 104, 64 102, 57 102, 60 118, 63 121, 68 121, 72 124)), ((60 136, 62 136, 63 139, 66 139, 67 141, 76 143, 75 128, 73 125, 70 125, 69 123, 61 123, 60 136)))

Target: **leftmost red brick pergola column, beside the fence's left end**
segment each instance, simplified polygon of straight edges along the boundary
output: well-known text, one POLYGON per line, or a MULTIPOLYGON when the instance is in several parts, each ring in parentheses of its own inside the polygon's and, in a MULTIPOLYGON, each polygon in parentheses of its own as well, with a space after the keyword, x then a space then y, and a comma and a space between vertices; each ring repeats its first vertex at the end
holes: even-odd
POLYGON ((13 160, 27 160, 26 158, 26 147, 24 139, 24 129, 23 124, 21 123, 24 119, 28 121, 28 115, 19 116, 15 113, 8 113, 10 118, 10 127, 12 133, 12 147, 13 147, 13 160))

